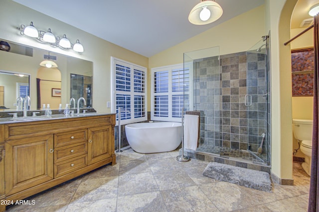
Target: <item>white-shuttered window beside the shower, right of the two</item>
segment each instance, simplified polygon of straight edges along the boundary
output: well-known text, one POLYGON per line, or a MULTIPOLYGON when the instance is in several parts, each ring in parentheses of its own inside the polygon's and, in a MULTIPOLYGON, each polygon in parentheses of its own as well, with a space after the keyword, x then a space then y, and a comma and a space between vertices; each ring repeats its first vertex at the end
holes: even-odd
POLYGON ((151 119, 180 122, 189 110, 189 67, 183 64, 152 68, 151 119))

